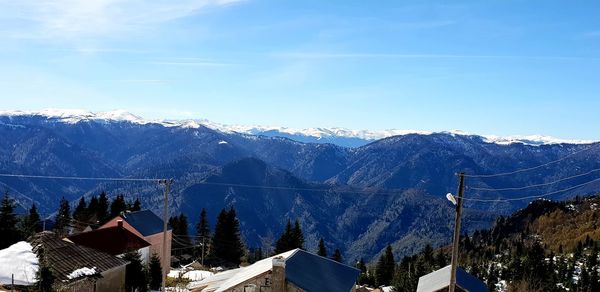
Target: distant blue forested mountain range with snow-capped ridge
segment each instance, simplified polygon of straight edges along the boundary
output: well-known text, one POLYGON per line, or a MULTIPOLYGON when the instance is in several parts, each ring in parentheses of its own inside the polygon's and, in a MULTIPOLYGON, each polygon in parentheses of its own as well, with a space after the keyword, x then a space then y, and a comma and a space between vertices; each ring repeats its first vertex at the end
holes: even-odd
MULTIPOLYGON (((444 196, 456 191, 458 171, 510 172, 567 157, 532 171, 468 178, 466 196, 515 198, 567 188, 549 197, 562 199, 600 190, 600 182, 570 188, 600 176, 594 171, 600 168, 600 143, 457 132, 387 137, 399 132, 377 136, 340 129, 268 129, 195 120, 145 121, 125 111, 4 111, 0 173, 171 177, 176 180, 172 214, 185 212, 195 223, 203 207, 214 218, 220 208, 233 205, 250 247, 268 245, 287 218, 300 218, 308 249, 316 249, 323 237, 330 250, 340 248, 347 261, 371 259, 387 243, 398 256, 419 250, 425 242, 447 243, 453 209, 444 196), (578 174, 531 189, 472 189, 515 188, 578 174)), ((74 201, 101 190, 140 198, 157 212, 162 205, 162 189, 147 182, 0 177, 0 187, 24 208, 33 201, 46 213, 56 209, 60 196, 74 201)), ((488 226, 496 215, 527 203, 467 201, 465 229, 488 226)))

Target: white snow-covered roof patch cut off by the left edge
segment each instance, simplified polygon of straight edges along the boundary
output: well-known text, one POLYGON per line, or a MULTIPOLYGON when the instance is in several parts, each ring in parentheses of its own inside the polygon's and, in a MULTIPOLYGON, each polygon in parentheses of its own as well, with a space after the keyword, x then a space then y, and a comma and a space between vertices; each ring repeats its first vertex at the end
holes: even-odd
POLYGON ((28 242, 20 241, 0 250, 0 284, 32 285, 38 270, 38 258, 28 242))

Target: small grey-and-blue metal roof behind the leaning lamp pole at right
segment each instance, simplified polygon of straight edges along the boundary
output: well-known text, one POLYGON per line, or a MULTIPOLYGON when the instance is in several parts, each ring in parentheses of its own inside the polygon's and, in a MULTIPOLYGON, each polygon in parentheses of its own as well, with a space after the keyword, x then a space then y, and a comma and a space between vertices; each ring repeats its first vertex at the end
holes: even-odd
MULTIPOLYGON (((451 267, 448 265, 420 277, 417 292, 433 292, 448 287, 450 285, 450 273, 451 267)), ((456 268, 456 285, 467 292, 489 291, 485 283, 465 272, 460 267, 456 268)))

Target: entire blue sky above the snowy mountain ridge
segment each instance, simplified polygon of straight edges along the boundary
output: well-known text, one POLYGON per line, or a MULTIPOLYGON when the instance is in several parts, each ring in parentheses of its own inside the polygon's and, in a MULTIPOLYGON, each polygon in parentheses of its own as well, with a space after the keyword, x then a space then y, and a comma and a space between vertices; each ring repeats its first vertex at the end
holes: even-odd
POLYGON ((597 1, 0 0, 2 109, 600 139, 597 1))

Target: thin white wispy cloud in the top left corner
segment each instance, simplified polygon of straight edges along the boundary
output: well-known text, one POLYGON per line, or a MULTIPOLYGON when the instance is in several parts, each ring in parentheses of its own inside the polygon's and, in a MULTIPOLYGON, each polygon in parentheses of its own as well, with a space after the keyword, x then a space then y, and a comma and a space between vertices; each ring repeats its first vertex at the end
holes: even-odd
POLYGON ((96 37, 137 30, 240 0, 20 0, 0 3, 0 20, 31 38, 96 37), (22 24, 22 25, 19 25, 22 24))

